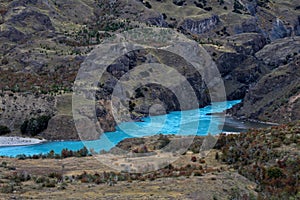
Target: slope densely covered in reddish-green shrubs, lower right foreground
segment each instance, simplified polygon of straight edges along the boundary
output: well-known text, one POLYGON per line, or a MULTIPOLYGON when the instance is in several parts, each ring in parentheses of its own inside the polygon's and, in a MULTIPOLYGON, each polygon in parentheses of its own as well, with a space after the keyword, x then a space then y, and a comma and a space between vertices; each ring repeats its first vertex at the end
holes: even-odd
POLYGON ((300 185, 299 123, 222 135, 217 148, 222 160, 258 182, 260 198, 297 198, 300 185))

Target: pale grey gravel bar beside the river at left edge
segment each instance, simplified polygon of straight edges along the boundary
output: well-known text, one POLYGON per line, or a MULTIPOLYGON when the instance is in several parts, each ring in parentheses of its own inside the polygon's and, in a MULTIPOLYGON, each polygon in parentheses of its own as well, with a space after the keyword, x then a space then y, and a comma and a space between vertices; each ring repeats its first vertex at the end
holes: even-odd
POLYGON ((46 142, 46 140, 41 140, 37 138, 24 138, 24 137, 0 137, 0 147, 5 146, 23 146, 23 145, 33 145, 46 142))

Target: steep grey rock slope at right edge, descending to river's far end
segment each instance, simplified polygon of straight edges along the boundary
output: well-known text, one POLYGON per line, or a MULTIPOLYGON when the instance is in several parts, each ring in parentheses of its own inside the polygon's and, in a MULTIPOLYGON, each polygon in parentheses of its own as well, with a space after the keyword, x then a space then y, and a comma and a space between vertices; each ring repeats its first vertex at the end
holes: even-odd
POLYGON ((265 75, 231 112, 245 119, 290 122, 300 119, 300 56, 265 75))

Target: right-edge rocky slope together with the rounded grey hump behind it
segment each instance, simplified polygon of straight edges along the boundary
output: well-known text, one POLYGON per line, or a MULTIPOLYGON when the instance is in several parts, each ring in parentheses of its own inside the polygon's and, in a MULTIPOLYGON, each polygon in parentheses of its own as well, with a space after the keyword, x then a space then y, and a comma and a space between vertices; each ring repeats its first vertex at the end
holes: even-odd
POLYGON ((278 40, 256 53, 275 69, 251 87, 243 102, 231 110, 235 116, 277 123, 300 119, 299 42, 299 37, 278 40))

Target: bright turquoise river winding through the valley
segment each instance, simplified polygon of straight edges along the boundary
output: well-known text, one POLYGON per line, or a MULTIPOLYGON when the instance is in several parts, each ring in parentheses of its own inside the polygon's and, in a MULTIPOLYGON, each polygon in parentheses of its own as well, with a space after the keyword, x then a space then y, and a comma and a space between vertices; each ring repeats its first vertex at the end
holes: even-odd
POLYGON ((28 146, 0 147, 1 156, 25 154, 46 154, 51 150, 60 153, 62 149, 79 150, 84 147, 93 148, 95 151, 109 150, 125 138, 151 136, 155 134, 176 135, 207 135, 218 134, 222 131, 239 132, 256 125, 247 125, 244 122, 226 119, 223 129, 222 117, 218 114, 240 100, 215 102, 204 108, 189 111, 175 111, 166 115, 143 118, 143 122, 124 122, 118 125, 115 132, 106 132, 99 140, 94 141, 54 141, 28 146))

